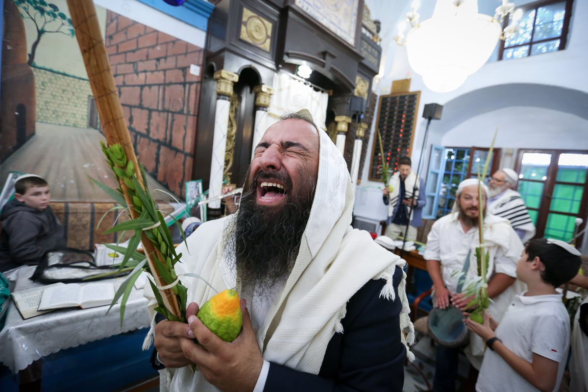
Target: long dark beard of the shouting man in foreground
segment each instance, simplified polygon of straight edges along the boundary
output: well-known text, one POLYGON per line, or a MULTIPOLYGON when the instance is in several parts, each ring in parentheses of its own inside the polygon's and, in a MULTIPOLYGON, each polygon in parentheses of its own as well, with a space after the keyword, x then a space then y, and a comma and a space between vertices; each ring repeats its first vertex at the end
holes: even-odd
POLYGON ((258 205, 257 184, 276 177, 292 189, 288 175, 258 172, 245 185, 235 223, 228 228, 235 233, 229 236, 234 243, 228 244, 228 251, 234 249, 238 279, 243 286, 255 287, 258 293, 272 292, 292 270, 314 198, 315 180, 309 179, 286 196, 285 206, 258 205))

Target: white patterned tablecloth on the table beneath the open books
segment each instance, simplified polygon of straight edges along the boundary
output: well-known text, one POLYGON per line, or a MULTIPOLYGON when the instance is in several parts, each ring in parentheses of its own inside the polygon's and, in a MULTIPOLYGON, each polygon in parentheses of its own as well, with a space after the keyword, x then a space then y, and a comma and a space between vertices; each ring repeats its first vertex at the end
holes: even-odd
MULTIPOLYGON (((28 279, 34 271, 35 266, 25 266, 8 274, 8 279, 16 280, 13 291, 41 286, 28 279)), ((112 280, 116 289, 123 279, 112 280)), ((122 328, 120 306, 116 304, 108 314, 106 310, 108 306, 57 310, 24 320, 13 302, 8 309, 4 329, 0 331, 0 362, 16 373, 33 361, 59 350, 149 327, 143 290, 133 289, 129 296, 122 328)))

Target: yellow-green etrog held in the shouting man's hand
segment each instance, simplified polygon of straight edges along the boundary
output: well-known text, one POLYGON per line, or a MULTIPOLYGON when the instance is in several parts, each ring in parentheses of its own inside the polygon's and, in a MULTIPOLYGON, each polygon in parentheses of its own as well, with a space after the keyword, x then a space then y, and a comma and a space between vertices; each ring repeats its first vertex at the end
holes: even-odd
POLYGON ((235 340, 243 324, 239 294, 229 289, 216 294, 202 305, 196 317, 220 339, 235 340))

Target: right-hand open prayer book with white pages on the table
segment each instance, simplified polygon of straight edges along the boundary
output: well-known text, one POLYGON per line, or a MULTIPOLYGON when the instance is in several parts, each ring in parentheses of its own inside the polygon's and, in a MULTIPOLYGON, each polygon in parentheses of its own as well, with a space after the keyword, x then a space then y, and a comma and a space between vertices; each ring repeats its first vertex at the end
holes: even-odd
POLYGON ((43 290, 38 310, 62 309, 66 307, 89 307, 109 305, 115 296, 114 284, 68 283, 47 287, 43 290))

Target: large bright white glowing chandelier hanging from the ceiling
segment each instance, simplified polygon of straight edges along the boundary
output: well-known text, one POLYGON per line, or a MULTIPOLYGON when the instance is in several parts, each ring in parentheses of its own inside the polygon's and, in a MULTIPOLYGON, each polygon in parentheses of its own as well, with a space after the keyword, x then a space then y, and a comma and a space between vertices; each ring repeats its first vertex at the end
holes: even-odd
POLYGON ((437 0, 433 16, 420 22, 419 0, 411 8, 394 39, 406 45, 410 67, 435 92, 459 88, 488 61, 499 39, 518 31, 522 14, 520 9, 513 13, 515 5, 508 0, 502 0, 494 16, 478 14, 477 0, 437 0), (510 25, 502 29, 510 14, 510 25), (410 29, 405 36, 407 22, 410 29))

